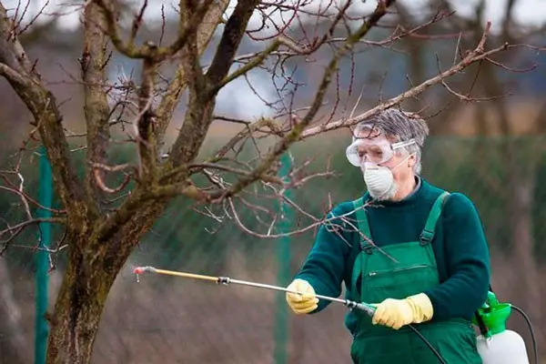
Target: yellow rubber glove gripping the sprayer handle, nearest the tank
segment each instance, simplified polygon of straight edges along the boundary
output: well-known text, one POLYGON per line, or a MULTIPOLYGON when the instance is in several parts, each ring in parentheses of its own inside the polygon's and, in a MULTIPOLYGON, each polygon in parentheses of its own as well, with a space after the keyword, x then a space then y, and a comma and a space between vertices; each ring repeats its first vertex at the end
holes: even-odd
POLYGON ((371 322, 374 325, 385 325, 392 329, 428 321, 434 314, 430 298, 424 293, 405 299, 387 298, 374 306, 377 309, 371 322))

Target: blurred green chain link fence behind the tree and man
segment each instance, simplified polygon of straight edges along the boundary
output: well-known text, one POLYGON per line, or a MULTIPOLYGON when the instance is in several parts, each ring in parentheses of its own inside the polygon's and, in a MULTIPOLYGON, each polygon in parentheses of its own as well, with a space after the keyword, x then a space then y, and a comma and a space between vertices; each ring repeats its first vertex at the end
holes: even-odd
MULTIPOLYGON (((346 139, 318 138, 294 149, 296 162, 326 157, 339 176, 309 181, 292 191, 299 207, 321 216, 329 201, 358 197, 365 186, 358 168, 344 159, 346 139)), ((467 194, 480 211, 490 243, 492 287, 502 300, 523 308, 533 320, 539 345, 541 282, 546 258, 546 136, 460 138, 431 136, 423 153, 423 177, 467 194), (530 259, 531 258, 531 259, 530 259)), ((26 167, 28 170, 35 166, 26 167)), ((35 175, 36 176, 36 175, 35 175)), ((25 182, 35 196, 37 177, 25 182)), ((14 223, 20 200, 2 192, 2 221, 14 223)), ((258 227, 255 210, 240 209, 248 227, 258 227)), ((303 224, 294 217, 290 228, 303 224)), ((95 344, 93 363, 348 363, 350 338, 343 326, 346 308, 331 304, 319 315, 291 315, 284 294, 258 288, 217 286, 203 281, 145 275, 136 282, 131 268, 151 265, 212 276, 288 285, 313 244, 315 229, 286 239, 260 239, 227 218, 193 211, 185 201, 169 207, 126 264, 111 291, 95 344), (289 272, 279 271, 288 267, 289 272)), ((54 231, 54 238, 60 238, 54 231)), ((36 232, 17 238, 32 245, 36 232)), ((59 270, 63 267, 59 258, 59 270)), ((8 249, 0 259, 0 363, 33 361, 35 258, 32 249, 8 249)), ((50 274, 53 307, 61 273, 50 274)), ((511 328, 531 349, 524 321, 513 314, 511 328)), ((546 361, 544 361, 546 362, 546 361)))

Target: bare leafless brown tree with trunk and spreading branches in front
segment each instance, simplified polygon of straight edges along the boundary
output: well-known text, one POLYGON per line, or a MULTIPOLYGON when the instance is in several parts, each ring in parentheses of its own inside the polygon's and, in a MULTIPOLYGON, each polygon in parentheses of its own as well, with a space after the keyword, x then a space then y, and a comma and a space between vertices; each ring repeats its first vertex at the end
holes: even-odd
MULTIPOLYGON (((59 103, 45 86, 39 66, 26 56, 20 43, 25 30, 20 15, 17 9, 8 12, 0 3, 0 75, 5 77, 33 116, 34 128, 24 145, 31 148, 32 141, 37 138, 45 146, 52 165, 56 194, 62 203, 61 209, 52 210, 54 216, 51 218, 33 217, 28 207, 37 203, 25 191, 21 163, 16 163, 12 170, 3 171, 5 186, 2 189, 20 197, 25 207, 25 220, 7 225, 0 231, 0 248, 13 245, 25 227, 38 222, 59 224, 66 231, 62 244, 47 248, 52 255, 60 250, 66 251, 68 259, 55 309, 49 317, 48 363, 90 361, 99 319, 116 275, 139 239, 175 197, 195 201, 202 207, 200 213, 217 220, 223 218, 219 214, 230 216, 250 234, 277 238, 281 235, 274 229, 278 213, 249 202, 250 197, 256 197, 256 186, 260 186, 263 198, 284 198, 288 205, 310 220, 306 227, 298 227, 288 234, 307 231, 325 223, 326 219, 310 216, 284 197, 284 191, 302 186, 311 177, 329 176, 331 171, 309 174, 305 169, 308 163, 304 163, 293 167, 286 178, 278 177, 278 158, 289 147, 311 136, 352 126, 380 110, 419 96, 431 86, 448 87, 446 79, 459 74, 465 67, 475 62, 487 62, 497 53, 524 46, 502 44, 488 49, 488 24, 479 41, 470 49, 456 49, 461 56, 456 57, 450 67, 440 69, 437 76, 411 86, 399 96, 381 101, 363 114, 335 119, 338 102, 328 110, 324 110, 324 104, 332 92, 332 98, 339 100, 337 88, 332 86, 341 59, 349 57, 359 46, 388 46, 404 37, 418 35, 420 29, 441 21, 449 14, 433 15, 429 21, 405 29, 396 25, 396 15, 389 15, 393 0, 379 1, 373 12, 357 18, 349 15, 351 1, 341 6, 334 5, 334 2, 321 3, 319 10, 313 10, 310 6, 313 3, 310 0, 241 0, 227 16, 227 0, 181 0, 177 9, 177 36, 170 44, 163 45, 163 36, 159 36, 159 42, 140 44, 136 41, 147 1, 136 9, 132 26, 128 29, 121 25, 128 12, 126 7, 113 0, 86 1, 81 9, 85 39, 79 58, 81 75, 78 77, 85 93, 84 177, 76 173, 68 139, 71 134, 63 124, 59 103), (259 29, 252 29, 249 20, 253 14, 263 19, 260 28, 273 26, 275 34, 260 36, 259 29), (289 20, 279 23, 272 20, 275 15, 289 20), (329 29, 324 34, 303 32, 298 39, 291 37, 289 26, 303 26, 299 24, 304 18, 327 21, 329 29), (380 24, 383 21, 385 24, 380 24), (220 24, 221 31, 218 28, 220 24), (392 32, 381 41, 366 40, 370 29, 377 26, 389 27, 392 32), (200 57, 216 32, 220 37, 214 56, 209 65, 203 66, 200 57), (262 50, 238 56, 239 45, 245 36, 260 45, 262 50), (305 59, 319 49, 329 50, 331 56, 314 86, 310 104, 296 107, 298 87, 285 87, 293 84, 293 80, 284 65, 289 59, 305 59), (112 52, 140 62, 138 80, 112 80, 108 77, 112 52), (231 71, 234 65, 238 67, 231 71), (165 76, 169 66, 175 66, 174 75, 165 76), (215 115, 218 92, 258 67, 284 82, 285 86, 277 86, 278 100, 271 104, 276 115, 255 122, 215 115), (167 126, 183 94, 187 96, 183 124, 167 153, 163 150, 167 126), (198 153, 214 120, 238 123, 243 127, 213 156, 198 160, 198 153), (126 141, 136 148, 134 163, 109 164, 109 151, 115 144, 113 136, 117 135, 113 130, 118 134, 125 133, 126 141), (268 150, 258 147, 259 138, 273 139, 268 150), (245 145, 256 147, 256 157, 250 161, 238 158, 245 145), (112 176, 121 177, 122 182, 112 187, 111 181, 115 180, 112 176), (206 177, 208 183, 198 185, 195 181, 197 176, 206 177), (17 178, 21 183, 15 183, 17 178), (269 217, 267 222, 263 222, 264 230, 253 231, 246 227, 238 217, 240 207, 256 209, 257 215, 263 213, 269 217)), ((460 98, 469 98, 449 89, 460 98)))

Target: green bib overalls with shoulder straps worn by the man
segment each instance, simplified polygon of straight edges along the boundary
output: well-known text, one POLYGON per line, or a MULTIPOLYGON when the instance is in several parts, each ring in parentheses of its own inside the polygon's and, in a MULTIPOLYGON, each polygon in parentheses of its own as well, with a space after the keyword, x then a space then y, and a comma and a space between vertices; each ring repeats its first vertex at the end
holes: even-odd
MULTIPOLYGON (((380 303, 385 298, 407 298, 440 284, 436 259, 430 242, 443 202, 450 194, 444 192, 430 210, 419 241, 378 248, 360 238, 360 252, 352 272, 349 299, 380 303), (386 256, 388 255, 388 256, 386 256), (389 258, 391 257, 391 258, 389 258), (396 259, 395 261, 392 258, 396 259), (361 279, 359 279, 361 277, 361 279), (360 289, 357 289, 359 285, 360 289)), ((367 195, 366 195, 367 196, 367 195)), ((365 196, 365 197, 366 197, 365 196)), ((353 202, 359 230, 371 241, 369 222, 362 208, 365 197, 353 202)), ((371 318, 354 310, 356 327, 350 356, 358 364, 437 364, 440 360, 420 337, 408 327, 399 330, 372 325, 371 318)), ((450 319, 413 324, 448 364, 480 364, 476 335, 467 319, 450 319)))

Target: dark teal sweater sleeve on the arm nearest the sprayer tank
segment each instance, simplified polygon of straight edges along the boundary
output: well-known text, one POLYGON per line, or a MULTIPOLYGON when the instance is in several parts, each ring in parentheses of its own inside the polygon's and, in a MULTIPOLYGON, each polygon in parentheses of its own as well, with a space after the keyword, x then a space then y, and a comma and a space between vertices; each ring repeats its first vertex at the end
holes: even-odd
POLYGON ((478 211, 468 197, 451 194, 443 214, 448 278, 425 293, 436 319, 470 319, 485 302, 490 287, 489 248, 478 211))

